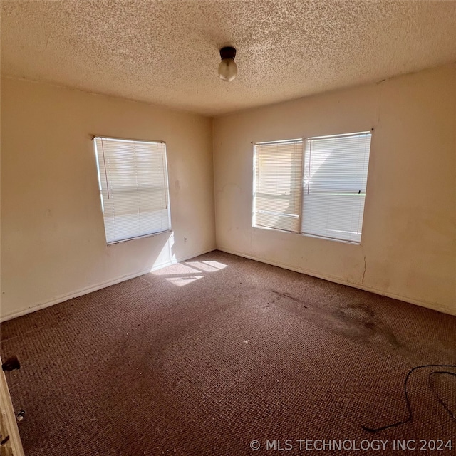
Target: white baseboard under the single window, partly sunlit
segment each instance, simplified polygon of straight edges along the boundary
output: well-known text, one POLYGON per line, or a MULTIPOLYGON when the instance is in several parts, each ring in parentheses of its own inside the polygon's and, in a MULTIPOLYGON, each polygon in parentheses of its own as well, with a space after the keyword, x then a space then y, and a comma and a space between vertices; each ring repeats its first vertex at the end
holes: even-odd
POLYGON ((77 298, 78 296, 82 296, 83 294, 92 293, 92 291, 97 291, 102 288, 106 288, 107 286, 120 284, 120 282, 123 282, 125 280, 135 279, 135 277, 142 276, 144 274, 147 274, 148 272, 156 271, 157 269, 162 269, 166 266, 171 266, 172 264, 180 263, 180 261, 185 261, 187 259, 198 257, 199 255, 202 255, 202 254, 207 254, 208 252, 213 252, 215 249, 216 249, 216 247, 204 249, 200 252, 195 252, 195 253, 193 253, 191 255, 187 255, 185 257, 179 257, 172 261, 165 261, 163 263, 156 264, 152 268, 147 268, 147 269, 144 269, 143 271, 138 271, 133 274, 128 274, 127 276, 118 277, 117 279, 104 281, 100 284, 87 286, 86 288, 83 288, 83 289, 78 289, 76 291, 73 291, 72 293, 58 296, 56 299, 53 299, 52 301, 46 301, 46 302, 43 302, 40 304, 33 304, 32 306, 28 306, 26 309, 22 309, 20 311, 14 311, 14 312, 11 312, 10 314, 1 316, 0 323, 3 323, 4 321, 12 320, 13 318, 16 318, 18 316, 31 314, 31 312, 36 312, 41 309, 45 309, 46 307, 51 307, 54 304, 59 304, 64 301, 68 301, 68 299, 77 298))

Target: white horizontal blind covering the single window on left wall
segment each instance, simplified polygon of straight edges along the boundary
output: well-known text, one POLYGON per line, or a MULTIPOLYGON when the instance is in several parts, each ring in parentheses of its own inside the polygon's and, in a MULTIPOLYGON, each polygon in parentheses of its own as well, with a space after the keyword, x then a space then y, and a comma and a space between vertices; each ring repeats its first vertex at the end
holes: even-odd
POLYGON ((170 229, 166 145, 95 138, 106 242, 170 229))

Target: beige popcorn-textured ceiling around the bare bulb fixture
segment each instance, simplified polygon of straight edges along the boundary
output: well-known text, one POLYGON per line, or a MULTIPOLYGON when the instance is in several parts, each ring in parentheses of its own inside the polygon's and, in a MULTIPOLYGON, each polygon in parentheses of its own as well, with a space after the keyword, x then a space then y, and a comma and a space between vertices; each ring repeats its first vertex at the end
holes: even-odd
POLYGON ((1 71, 219 115, 455 61, 455 24, 456 1, 1 0, 1 71))

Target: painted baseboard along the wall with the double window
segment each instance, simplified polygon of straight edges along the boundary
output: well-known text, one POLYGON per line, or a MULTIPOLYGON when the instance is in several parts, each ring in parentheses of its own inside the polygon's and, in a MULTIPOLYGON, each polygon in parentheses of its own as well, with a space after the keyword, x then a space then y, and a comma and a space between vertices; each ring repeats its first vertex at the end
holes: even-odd
POLYGON ((268 259, 264 259, 261 257, 254 257, 252 255, 247 255, 242 252, 237 252, 233 249, 228 249, 226 247, 217 247, 217 250, 221 252, 227 252, 228 254, 237 255, 238 257, 244 257, 248 259, 253 259, 255 261, 260 261, 261 263, 271 264, 271 266, 279 266, 283 269, 289 269, 290 271, 299 272, 301 274, 307 274, 308 276, 318 277, 318 279, 324 279, 331 282, 335 282, 336 284, 347 285, 353 288, 357 288, 364 291, 371 291, 371 293, 379 294, 380 296, 388 296, 388 298, 398 299, 400 301, 405 301, 410 304, 416 304, 417 306, 426 307, 427 309, 432 309, 434 311, 442 312, 443 314, 450 314, 456 316, 455 309, 449 309, 445 306, 440 306, 439 304, 429 303, 426 301, 420 301, 418 299, 410 298, 409 296, 403 296, 397 293, 391 293, 390 291, 384 291, 380 289, 375 289, 372 286, 366 286, 363 284, 358 284, 356 282, 346 281, 341 279, 340 277, 331 276, 329 274, 320 274, 316 271, 311 271, 310 269, 305 268, 295 268, 293 266, 289 266, 289 264, 283 264, 279 261, 269 261, 268 259))

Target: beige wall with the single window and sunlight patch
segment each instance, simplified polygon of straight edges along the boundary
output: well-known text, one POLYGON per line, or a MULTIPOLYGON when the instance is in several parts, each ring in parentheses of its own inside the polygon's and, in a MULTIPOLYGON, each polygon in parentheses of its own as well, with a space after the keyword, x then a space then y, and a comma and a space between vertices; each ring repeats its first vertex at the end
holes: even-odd
POLYGON ((214 249, 213 199, 210 118, 2 79, 3 318, 214 249), (165 140, 171 235, 106 247, 91 134, 165 140))

